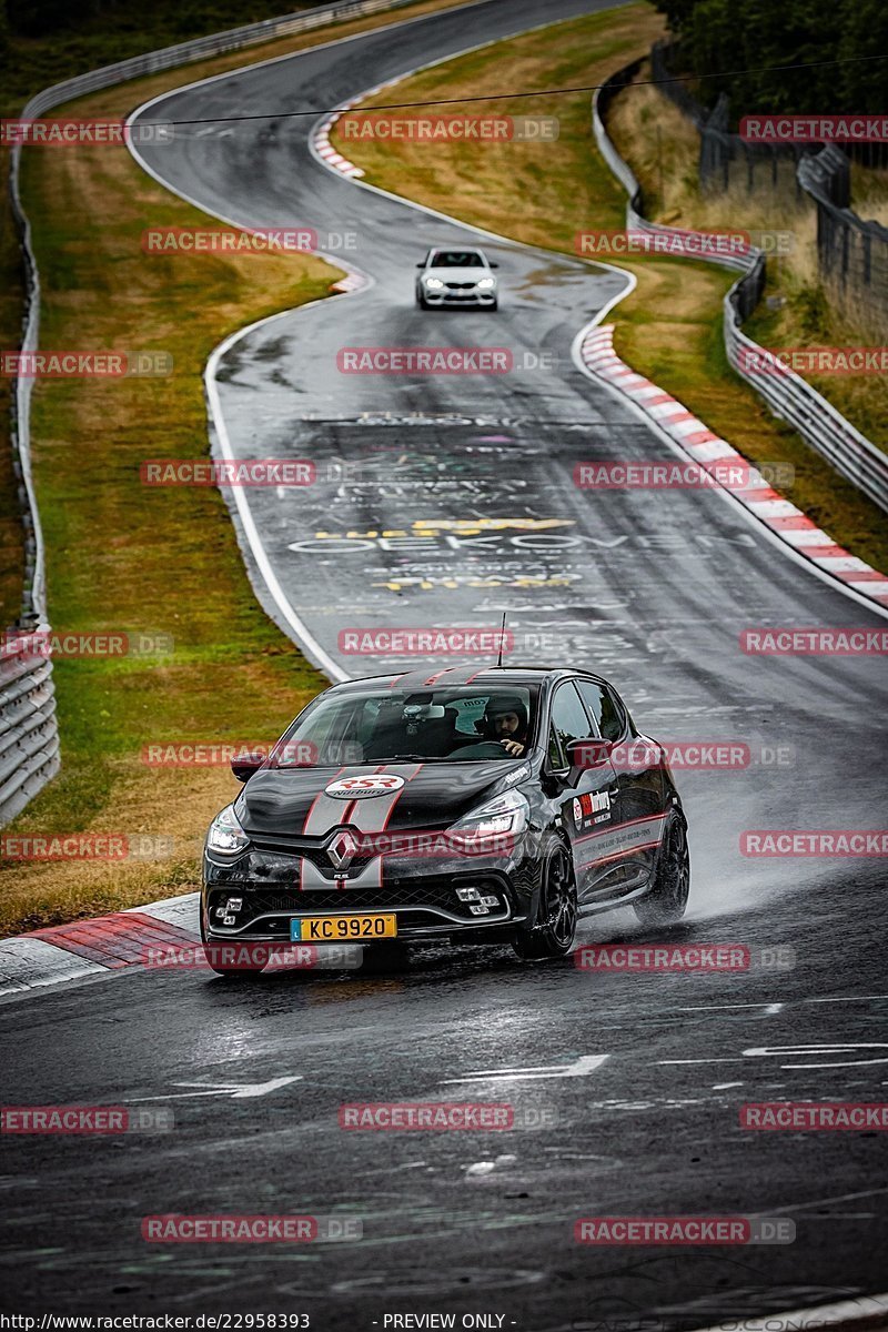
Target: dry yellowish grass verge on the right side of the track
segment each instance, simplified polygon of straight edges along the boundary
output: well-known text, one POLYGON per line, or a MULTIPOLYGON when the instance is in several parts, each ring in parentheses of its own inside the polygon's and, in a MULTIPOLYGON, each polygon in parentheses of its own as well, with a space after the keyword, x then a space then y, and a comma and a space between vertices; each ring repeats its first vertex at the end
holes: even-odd
MULTIPOLYGON (((451 115, 493 115, 502 104, 461 105, 459 99, 477 96, 478 88, 533 92, 599 84, 650 49, 662 31, 663 20, 650 5, 627 5, 437 65, 365 105, 453 99, 454 105, 446 108, 451 115)), ((622 228, 626 196, 595 148, 590 95, 564 95, 556 103, 529 96, 509 109, 527 116, 556 112, 559 139, 547 144, 491 141, 474 148, 446 141, 355 141, 343 137, 341 121, 333 140, 365 169, 371 184, 446 213, 455 209, 463 221, 518 241, 572 254, 578 232, 622 228)), ((628 152, 619 124, 615 135, 618 147, 628 152)), ((671 128, 662 135, 664 148, 670 139, 671 128)), ((679 156, 664 161, 664 181, 678 170, 679 156)), ((668 206, 675 213, 671 200, 668 206)), ((682 217, 664 220, 680 222, 682 217)), ((699 218, 694 221, 699 225, 699 218)), ((620 261, 619 266, 635 272, 638 288, 611 316, 618 353, 680 398, 752 462, 792 465, 795 481, 783 488, 787 498, 855 554, 888 569, 884 514, 800 436, 776 421, 730 368, 722 340, 722 298, 732 276, 706 264, 650 256, 620 261)), ((578 312, 578 324, 580 317, 578 312)))

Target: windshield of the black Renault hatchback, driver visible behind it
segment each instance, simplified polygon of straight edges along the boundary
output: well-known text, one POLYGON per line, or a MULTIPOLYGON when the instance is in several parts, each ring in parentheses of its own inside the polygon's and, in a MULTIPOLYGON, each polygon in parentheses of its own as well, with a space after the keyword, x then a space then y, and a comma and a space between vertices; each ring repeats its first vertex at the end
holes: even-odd
POLYGON ((534 734, 537 693, 537 686, 497 685, 321 695, 282 737, 270 766, 522 758, 534 734))

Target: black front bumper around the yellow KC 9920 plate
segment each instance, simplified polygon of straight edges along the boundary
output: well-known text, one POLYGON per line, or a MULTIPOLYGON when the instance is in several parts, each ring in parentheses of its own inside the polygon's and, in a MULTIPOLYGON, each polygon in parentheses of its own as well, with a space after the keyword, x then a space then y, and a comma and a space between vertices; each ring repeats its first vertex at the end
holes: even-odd
POLYGON ((514 938, 531 919, 535 862, 521 855, 454 856, 419 872, 415 862, 386 856, 381 870, 358 866, 350 879, 337 882, 332 870, 318 872, 320 855, 316 847, 310 851, 310 887, 301 887, 302 856, 294 851, 256 846, 230 864, 205 854, 201 906, 208 939, 285 944, 294 916, 386 912, 397 916, 403 942, 485 943, 514 938))

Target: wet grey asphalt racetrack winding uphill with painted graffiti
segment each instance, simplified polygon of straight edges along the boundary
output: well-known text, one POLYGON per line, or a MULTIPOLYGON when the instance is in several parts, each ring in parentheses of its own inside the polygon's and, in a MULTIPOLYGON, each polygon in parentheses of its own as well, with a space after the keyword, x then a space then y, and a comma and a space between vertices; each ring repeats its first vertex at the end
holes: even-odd
MULTIPOLYGON (((555 0, 545 19, 598 8, 555 0)), ((539 21, 529 0, 487 0, 197 84, 140 115, 209 124, 141 153, 170 189, 238 225, 357 232, 351 257, 370 285, 256 326, 217 373, 236 457, 310 458, 333 478, 248 497, 310 655, 369 674, 398 662, 343 657, 339 629, 493 626, 507 610, 515 658, 600 670, 646 731, 748 743, 759 761, 746 770, 679 774, 695 883, 674 936, 788 944, 797 964, 603 976, 463 950, 418 955, 383 979, 232 987, 140 971, 17 999, 0 1011, 17 1102, 181 1096, 169 1102, 177 1131, 129 1151, 12 1144, 17 1305, 306 1309, 314 1327, 337 1329, 394 1312, 490 1312, 554 1332, 639 1319, 704 1327, 879 1288, 880 1135, 738 1127, 743 1102, 881 1099, 879 862, 750 860, 739 836, 879 826, 884 671, 879 658, 747 657, 739 635, 883 619, 720 494, 574 486, 578 461, 671 457, 571 357, 578 329, 619 294, 618 273, 482 241, 501 262, 499 312, 418 312, 415 260, 429 244, 477 244, 475 233, 330 173, 310 152, 312 117, 213 123, 233 111, 320 115, 539 21), (503 346, 546 360, 521 374, 381 378, 341 374, 345 345, 503 346), (343 461, 362 469, 357 480, 339 480, 343 461), (770 763, 780 747, 783 762, 770 763), (16 1039, 23 1023, 28 1042, 16 1039), (588 1055, 607 1058, 576 1071, 588 1055), (286 1075, 300 1080, 254 1099, 181 1086, 286 1075), (558 1124, 499 1139, 337 1127, 341 1102, 439 1098, 514 1099, 558 1124), (148 1212, 334 1209, 363 1217, 361 1243, 201 1252, 138 1237, 148 1212), (797 1235, 664 1253, 572 1241, 578 1216, 671 1212, 783 1213, 797 1235)), ((583 938, 636 930, 626 912, 583 938)))

